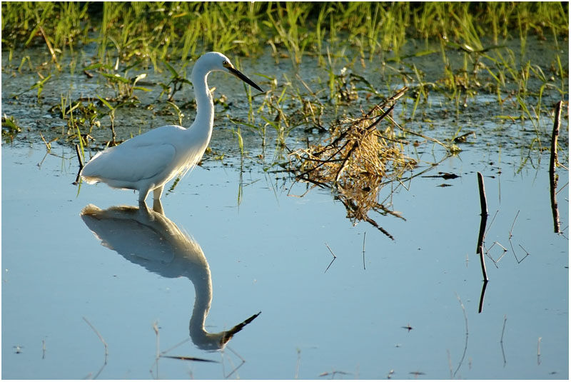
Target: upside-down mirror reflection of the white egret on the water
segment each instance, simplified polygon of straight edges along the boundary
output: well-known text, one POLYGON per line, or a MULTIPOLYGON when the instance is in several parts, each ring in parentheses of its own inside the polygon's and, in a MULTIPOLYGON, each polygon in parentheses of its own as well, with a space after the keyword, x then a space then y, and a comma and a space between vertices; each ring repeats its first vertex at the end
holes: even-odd
POLYGON ((145 203, 102 210, 89 204, 81 218, 101 240, 101 245, 121 254, 131 263, 168 278, 186 277, 194 284, 196 300, 189 331, 193 343, 203 350, 224 348, 230 339, 261 313, 256 313, 228 331, 209 333, 204 322, 212 302, 212 280, 201 247, 164 216, 160 201, 150 210, 145 203))

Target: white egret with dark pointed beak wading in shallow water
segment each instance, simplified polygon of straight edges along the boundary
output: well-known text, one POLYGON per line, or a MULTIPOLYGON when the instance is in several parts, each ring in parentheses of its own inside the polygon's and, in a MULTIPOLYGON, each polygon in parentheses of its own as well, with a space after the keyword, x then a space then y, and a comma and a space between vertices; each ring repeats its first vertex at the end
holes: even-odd
POLYGON ((228 57, 218 52, 203 54, 191 74, 196 98, 193 124, 188 129, 162 126, 101 151, 81 169, 81 177, 89 184, 103 182, 116 189, 138 190, 139 203, 144 203, 151 190, 154 200, 160 200, 166 182, 196 166, 211 139, 214 104, 206 79, 212 71, 233 74, 262 91, 228 57))

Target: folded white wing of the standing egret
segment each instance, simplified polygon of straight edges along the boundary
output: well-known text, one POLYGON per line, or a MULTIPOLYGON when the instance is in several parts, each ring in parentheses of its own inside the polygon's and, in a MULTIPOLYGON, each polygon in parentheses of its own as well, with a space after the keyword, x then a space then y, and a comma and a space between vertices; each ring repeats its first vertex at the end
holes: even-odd
POLYGON ((94 156, 81 171, 81 176, 86 181, 134 183, 161 174, 176 155, 172 144, 127 143, 94 156))

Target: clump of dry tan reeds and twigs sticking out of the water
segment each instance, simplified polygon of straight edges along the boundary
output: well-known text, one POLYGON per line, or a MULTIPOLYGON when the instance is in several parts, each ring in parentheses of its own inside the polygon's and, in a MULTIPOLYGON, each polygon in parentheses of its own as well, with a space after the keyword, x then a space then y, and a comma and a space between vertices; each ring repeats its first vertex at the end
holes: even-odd
POLYGON ((298 181, 333 189, 353 223, 368 221, 390 238, 393 236, 368 213, 373 210, 402 218, 379 203, 379 191, 416 162, 403 154, 405 142, 395 138, 393 124, 383 129, 381 126, 385 125, 380 122, 407 90, 400 89, 358 119, 335 123, 330 128, 328 144, 314 144, 290 153, 289 171, 298 181))

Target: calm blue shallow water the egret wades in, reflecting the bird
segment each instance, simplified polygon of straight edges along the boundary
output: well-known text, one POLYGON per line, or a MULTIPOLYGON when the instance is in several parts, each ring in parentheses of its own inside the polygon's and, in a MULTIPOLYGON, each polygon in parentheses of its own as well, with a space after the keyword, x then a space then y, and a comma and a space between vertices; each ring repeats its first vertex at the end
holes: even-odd
MULTIPOLYGON (((3 89, 11 86, 4 84, 3 77, 3 89)), ((67 86, 76 95, 86 91, 67 86)), ((236 86, 236 93, 243 91, 236 86)), ((46 98, 57 99, 57 89, 46 86, 46 98)), ((41 127, 45 105, 30 107, 37 109, 29 116, 24 110, 21 120, 41 127)), ((218 110, 217 123, 230 126, 225 114, 218 110)), ((430 117, 440 119, 438 112, 430 117)), ((4 144, 2 378, 567 379, 567 171, 557 171, 564 228, 557 235, 548 157, 532 156, 522 166, 525 145, 513 144, 535 134, 530 126, 506 139, 508 127, 490 124, 489 116, 450 119, 431 131, 450 136, 464 123, 476 128, 477 144, 395 191, 393 206, 406 221, 372 214, 395 241, 368 223, 352 226, 330 192, 291 196, 305 186, 290 188, 290 180, 256 161, 241 174, 235 157, 208 157, 183 178, 163 196, 164 218, 109 211, 115 220, 105 228, 88 223, 81 211, 90 204, 138 208, 135 193, 85 184, 78 193, 69 146, 56 142, 46 154, 37 139, 4 144), (505 139, 502 149, 497 139, 505 139), (430 177, 438 171, 460 177, 430 177), (477 171, 485 176, 490 212, 486 246, 497 241, 508 250, 497 268, 486 259, 490 282, 482 313, 477 171), (139 228, 118 220, 133 215, 139 228), (151 236, 141 233, 148 227, 163 239, 146 241, 151 236), (115 241, 113 233, 121 230, 119 238, 128 239, 115 241), (337 256, 333 263, 328 247, 337 256), (203 350, 204 337, 189 336, 209 298, 208 332, 261 311, 223 351, 203 350), (216 362, 162 357, 157 364, 157 351, 216 362)), ((131 129, 141 123, 133 121, 131 129)), ((230 129, 214 131, 214 151, 236 152, 230 129)), ((563 130, 567 141, 566 123, 563 130)), ((259 137, 243 134, 255 158, 259 137)), ((415 153, 420 169, 445 158, 439 146, 426 143, 415 153)), ((380 198, 389 192, 385 186, 380 198)), ((499 246, 490 250, 495 259, 502 254, 499 246)))

